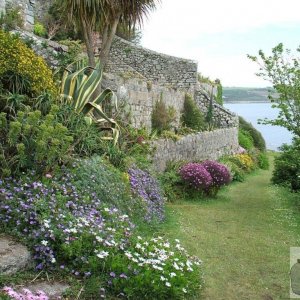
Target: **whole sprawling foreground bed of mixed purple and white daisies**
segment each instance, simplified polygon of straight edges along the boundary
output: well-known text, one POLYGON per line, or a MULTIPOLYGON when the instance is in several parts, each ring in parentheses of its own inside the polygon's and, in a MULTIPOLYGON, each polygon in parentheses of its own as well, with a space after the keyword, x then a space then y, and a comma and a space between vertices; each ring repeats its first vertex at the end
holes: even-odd
POLYGON ((128 215, 88 189, 77 189, 70 175, 47 177, 43 182, 29 177, 0 181, 1 228, 26 240, 37 270, 60 270, 85 287, 96 281, 93 291, 82 291, 83 299, 86 294, 97 299, 99 291, 132 299, 195 295, 201 262, 178 240, 137 236, 128 215))

